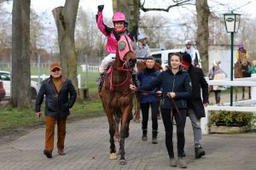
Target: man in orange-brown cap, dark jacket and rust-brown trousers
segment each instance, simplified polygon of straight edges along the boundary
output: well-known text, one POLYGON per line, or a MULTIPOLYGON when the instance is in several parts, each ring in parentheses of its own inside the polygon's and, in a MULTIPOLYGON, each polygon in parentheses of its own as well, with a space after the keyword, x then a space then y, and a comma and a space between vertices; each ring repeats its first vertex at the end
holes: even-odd
POLYGON ((59 155, 64 156, 67 116, 70 114, 69 108, 72 108, 77 98, 77 92, 71 80, 61 76, 61 65, 58 63, 54 62, 50 65, 50 77, 42 82, 42 86, 38 92, 35 109, 38 117, 42 115, 41 105, 44 100, 44 95, 44 116, 46 124, 44 155, 48 158, 52 158, 55 123, 57 123, 57 149, 59 155))

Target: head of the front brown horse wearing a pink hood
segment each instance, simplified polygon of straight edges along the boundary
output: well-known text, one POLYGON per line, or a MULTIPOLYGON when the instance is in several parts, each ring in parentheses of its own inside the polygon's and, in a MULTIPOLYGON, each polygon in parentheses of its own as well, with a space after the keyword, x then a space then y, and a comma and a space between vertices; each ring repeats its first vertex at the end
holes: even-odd
POLYGON ((133 68, 137 62, 135 54, 136 44, 128 36, 121 36, 118 42, 119 59, 125 63, 127 68, 133 68))

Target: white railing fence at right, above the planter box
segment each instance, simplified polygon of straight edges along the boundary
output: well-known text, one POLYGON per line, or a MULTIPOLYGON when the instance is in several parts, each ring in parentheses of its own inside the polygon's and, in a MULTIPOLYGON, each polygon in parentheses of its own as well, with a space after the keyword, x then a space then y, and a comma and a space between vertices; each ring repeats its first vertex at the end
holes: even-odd
POLYGON ((206 117, 201 118, 201 129, 202 133, 209 133, 208 118, 211 111, 247 111, 256 112, 256 74, 248 78, 234 79, 234 81, 229 80, 207 80, 209 85, 220 85, 220 86, 237 86, 237 87, 251 87, 252 99, 235 101, 233 106, 229 106, 230 103, 225 103, 223 105, 208 105, 205 107, 206 117), (246 106, 245 106, 246 105, 246 106))

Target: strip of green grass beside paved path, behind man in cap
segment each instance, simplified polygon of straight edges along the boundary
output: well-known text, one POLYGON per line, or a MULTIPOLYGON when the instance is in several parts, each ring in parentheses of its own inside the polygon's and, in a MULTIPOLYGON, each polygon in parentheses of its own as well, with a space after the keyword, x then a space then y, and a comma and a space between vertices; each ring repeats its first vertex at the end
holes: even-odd
MULTIPOLYGON (((44 111, 44 105, 42 106, 42 111, 44 111)), ((44 116, 38 118, 33 108, 19 109, 7 106, 0 109, 0 136, 14 133, 15 129, 20 127, 37 127, 44 124, 44 116)), ((100 99, 88 100, 82 103, 76 102, 70 111, 71 114, 67 118, 68 122, 104 116, 100 99)))

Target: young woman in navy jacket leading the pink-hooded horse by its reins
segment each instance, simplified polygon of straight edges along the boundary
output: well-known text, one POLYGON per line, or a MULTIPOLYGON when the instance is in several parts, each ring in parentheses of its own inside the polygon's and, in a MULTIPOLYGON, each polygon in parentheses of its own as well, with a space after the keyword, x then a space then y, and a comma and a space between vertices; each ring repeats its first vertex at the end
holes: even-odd
MULTIPOLYGON (((162 88, 163 99, 161 102, 161 116, 164 122, 166 130, 166 148, 170 157, 170 166, 187 167, 186 161, 183 160, 183 149, 185 144, 184 127, 186 123, 187 114, 187 99, 191 95, 191 81, 189 74, 186 71, 181 70, 181 54, 172 54, 170 56, 170 65, 168 70, 162 71, 154 81, 150 82, 146 86, 142 86, 137 89, 140 90, 153 90, 154 88, 162 88), (171 98, 174 99, 177 109, 180 112, 178 114, 175 105, 171 102, 171 98), (177 122, 177 161, 174 157, 173 143, 172 143, 172 131, 173 131, 173 117, 177 122)), ((134 85, 130 85, 132 90, 136 90, 134 85)))

